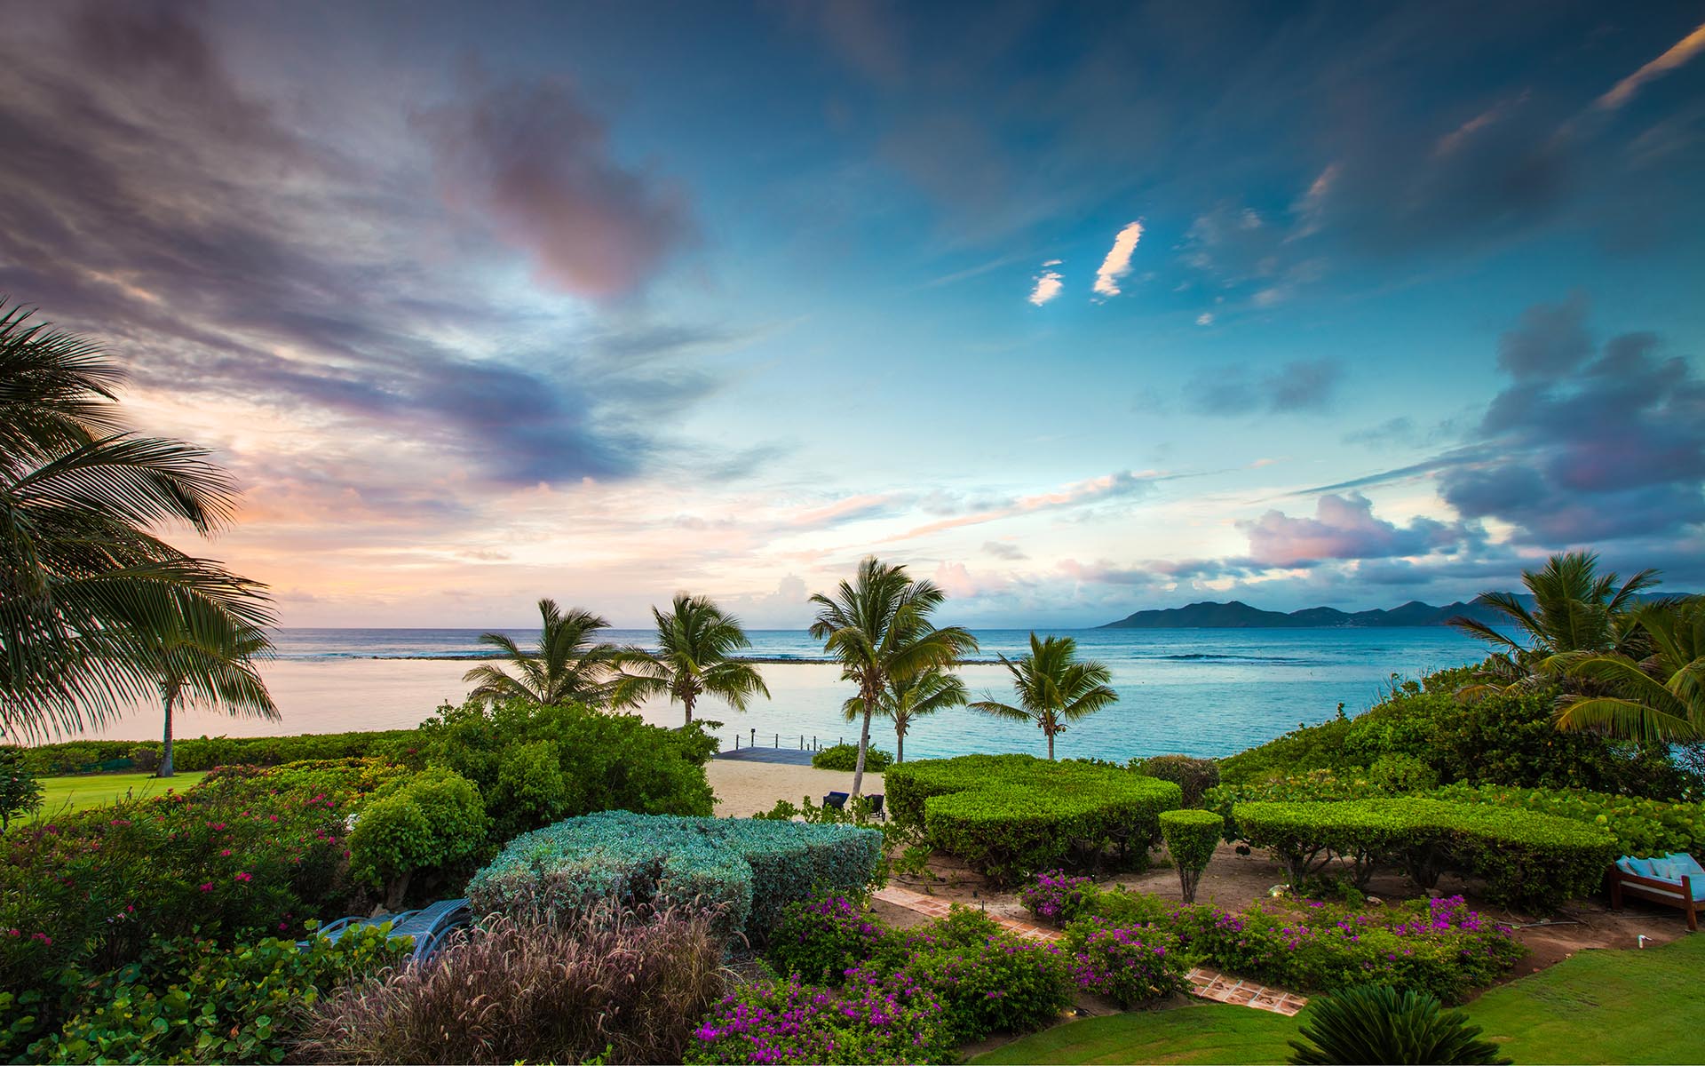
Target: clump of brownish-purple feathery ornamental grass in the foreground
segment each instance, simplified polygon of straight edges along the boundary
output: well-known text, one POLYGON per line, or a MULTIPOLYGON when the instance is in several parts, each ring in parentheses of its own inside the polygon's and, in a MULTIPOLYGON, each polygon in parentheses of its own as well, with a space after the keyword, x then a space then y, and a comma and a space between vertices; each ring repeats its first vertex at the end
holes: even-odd
POLYGON ((723 994, 723 941, 702 912, 494 918, 430 964, 314 1008, 297 1056, 317 1063, 679 1063, 723 994))

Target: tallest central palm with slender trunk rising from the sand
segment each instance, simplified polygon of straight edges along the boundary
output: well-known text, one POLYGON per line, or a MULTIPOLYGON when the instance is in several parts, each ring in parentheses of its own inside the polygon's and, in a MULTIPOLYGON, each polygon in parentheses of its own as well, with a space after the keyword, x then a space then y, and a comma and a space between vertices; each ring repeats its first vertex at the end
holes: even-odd
POLYGON ((858 565, 856 583, 841 582, 830 599, 817 594, 812 636, 841 663, 842 677, 858 684, 863 727, 858 762, 852 766, 852 798, 863 795, 864 752, 870 750, 870 720, 892 681, 907 681, 926 670, 953 665, 977 650, 977 638, 958 626, 936 629, 929 614, 946 594, 933 582, 914 580, 905 566, 876 561, 858 565))

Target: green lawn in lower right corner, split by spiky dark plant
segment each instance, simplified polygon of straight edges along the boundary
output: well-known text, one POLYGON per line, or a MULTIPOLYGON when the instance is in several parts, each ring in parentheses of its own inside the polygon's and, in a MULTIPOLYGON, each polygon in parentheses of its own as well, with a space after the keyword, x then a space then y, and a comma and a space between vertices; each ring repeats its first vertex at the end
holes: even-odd
MULTIPOLYGON (((1581 952, 1488 991, 1468 1015, 1516 1063, 1698 1063, 1702 989, 1705 936, 1691 935, 1644 952, 1581 952)), ((1057 1025, 974 1061, 1284 1063, 1296 1028, 1294 1018, 1204 1003, 1057 1025)))

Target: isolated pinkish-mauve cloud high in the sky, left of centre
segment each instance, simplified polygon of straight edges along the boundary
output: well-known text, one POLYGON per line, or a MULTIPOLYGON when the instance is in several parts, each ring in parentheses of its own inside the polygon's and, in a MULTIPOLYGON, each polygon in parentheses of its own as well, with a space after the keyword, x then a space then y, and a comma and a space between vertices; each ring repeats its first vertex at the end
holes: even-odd
POLYGON ((416 116, 438 181, 452 203, 532 252, 544 283, 622 297, 692 237, 680 194, 617 162, 604 121, 564 82, 464 92, 416 116))

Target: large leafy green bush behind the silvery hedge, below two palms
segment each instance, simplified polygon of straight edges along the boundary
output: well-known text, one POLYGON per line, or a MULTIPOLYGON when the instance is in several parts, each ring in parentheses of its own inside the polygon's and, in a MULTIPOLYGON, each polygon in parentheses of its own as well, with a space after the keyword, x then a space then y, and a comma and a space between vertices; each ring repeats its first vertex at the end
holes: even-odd
POLYGON ((598 810, 702 817, 714 802, 704 764, 716 739, 702 723, 668 730, 583 706, 469 701, 438 708, 421 723, 418 744, 421 759, 479 786, 505 834, 598 810), (559 797, 551 795, 558 778, 542 764, 549 754, 558 759, 559 797), (523 768, 505 779, 512 759, 523 768))

